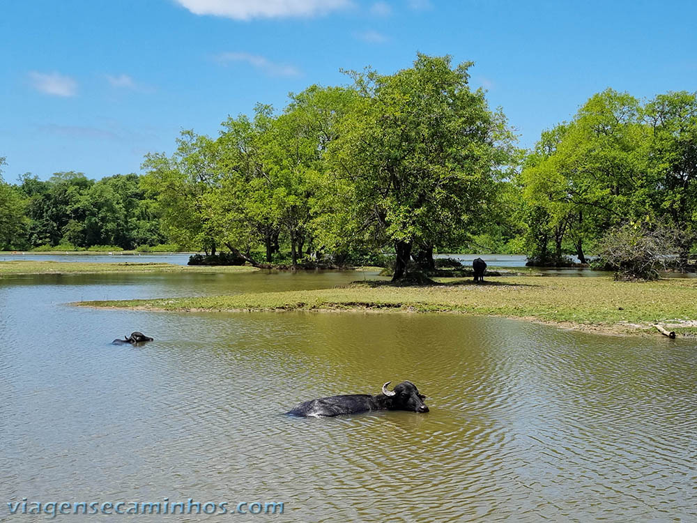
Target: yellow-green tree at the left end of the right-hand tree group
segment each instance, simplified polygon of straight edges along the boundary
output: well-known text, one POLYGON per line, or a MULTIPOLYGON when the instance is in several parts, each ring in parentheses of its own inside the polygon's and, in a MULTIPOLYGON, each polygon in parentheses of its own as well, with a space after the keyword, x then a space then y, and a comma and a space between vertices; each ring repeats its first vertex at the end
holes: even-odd
POLYGON ((543 132, 519 176, 528 256, 557 264, 567 241, 585 261, 585 243, 645 215, 646 144, 638 100, 612 89, 592 96, 572 122, 543 132))

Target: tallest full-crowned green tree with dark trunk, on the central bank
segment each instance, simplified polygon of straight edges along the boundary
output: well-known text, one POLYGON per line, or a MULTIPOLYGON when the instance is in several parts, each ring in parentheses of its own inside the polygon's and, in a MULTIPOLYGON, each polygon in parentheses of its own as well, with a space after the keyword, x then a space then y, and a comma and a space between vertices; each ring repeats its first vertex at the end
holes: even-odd
POLYGON ((355 227, 394 245, 394 280, 415 246, 461 243, 482 227, 512 161, 505 117, 468 86, 472 63, 450 62, 418 54, 394 75, 349 73, 360 100, 330 144, 355 227))

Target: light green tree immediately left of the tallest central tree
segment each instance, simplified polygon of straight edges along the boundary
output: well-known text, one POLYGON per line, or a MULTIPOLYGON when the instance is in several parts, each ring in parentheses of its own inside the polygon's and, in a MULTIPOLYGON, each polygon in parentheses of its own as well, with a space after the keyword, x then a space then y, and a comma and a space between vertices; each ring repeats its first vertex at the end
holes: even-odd
POLYGON ((215 141, 218 185, 207 194, 224 245, 249 261, 261 243, 266 261, 279 250, 279 236, 291 261, 321 247, 325 205, 325 151, 335 125, 355 99, 349 89, 311 86, 291 96, 282 114, 256 105, 252 119, 230 117, 215 141))

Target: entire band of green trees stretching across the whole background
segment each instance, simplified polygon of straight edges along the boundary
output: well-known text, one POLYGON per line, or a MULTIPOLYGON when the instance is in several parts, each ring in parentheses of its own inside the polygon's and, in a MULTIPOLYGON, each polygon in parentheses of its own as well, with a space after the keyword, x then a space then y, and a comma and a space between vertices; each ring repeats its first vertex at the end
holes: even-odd
MULTIPOLYGON (((419 54, 392 75, 346 72, 277 111, 186 130, 145 174, 76 172, 0 183, 0 248, 169 244, 259 261, 368 263, 434 252, 586 261, 621 227, 697 238, 697 93, 639 100, 607 89, 572 121, 516 146, 505 114, 470 89, 471 63, 419 54)), ((0 159, 0 166, 1 164, 0 159)))

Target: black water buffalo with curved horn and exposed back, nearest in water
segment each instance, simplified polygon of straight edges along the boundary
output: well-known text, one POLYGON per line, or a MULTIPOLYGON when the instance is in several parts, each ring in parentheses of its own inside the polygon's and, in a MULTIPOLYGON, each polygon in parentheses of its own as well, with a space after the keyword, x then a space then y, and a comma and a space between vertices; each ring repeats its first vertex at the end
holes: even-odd
POLYGON ((286 414, 293 416, 341 416, 369 411, 413 411, 428 412, 424 404, 426 396, 411 381, 402 381, 394 390, 388 391, 388 381, 383 385, 382 394, 350 394, 344 396, 321 397, 318 400, 303 402, 286 414))

